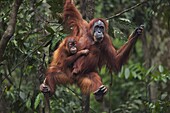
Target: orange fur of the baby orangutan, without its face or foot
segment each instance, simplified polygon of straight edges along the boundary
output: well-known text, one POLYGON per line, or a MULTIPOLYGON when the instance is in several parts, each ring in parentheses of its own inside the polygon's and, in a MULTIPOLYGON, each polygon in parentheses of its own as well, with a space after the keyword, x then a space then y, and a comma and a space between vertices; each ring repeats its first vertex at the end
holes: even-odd
MULTIPOLYGON (((68 40, 71 38, 72 37, 66 37, 59 45, 59 48, 55 50, 52 62, 47 69, 45 84, 49 86, 51 94, 54 94, 56 84, 72 84, 74 81, 71 74, 71 67, 68 65, 80 57, 82 53, 77 52, 74 55, 69 53, 69 48, 67 45, 68 40)), ((76 39, 76 37, 74 38, 76 39)))

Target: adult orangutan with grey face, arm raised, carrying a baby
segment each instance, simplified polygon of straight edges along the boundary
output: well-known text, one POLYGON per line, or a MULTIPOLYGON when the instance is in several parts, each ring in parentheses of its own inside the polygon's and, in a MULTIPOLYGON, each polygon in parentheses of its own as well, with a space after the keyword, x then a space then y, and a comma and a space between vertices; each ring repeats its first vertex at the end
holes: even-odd
MULTIPOLYGON (((97 100, 102 100, 107 89, 105 86, 93 87, 88 82, 93 80, 93 76, 99 76, 97 68, 106 65, 110 72, 119 71, 127 61, 130 50, 136 43, 138 36, 142 34, 143 27, 137 28, 120 49, 116 50, 108 35, 108 24, 104 19, 93 19, 89 23, 85 21, 80 12, 76 9, 73 0, 66 0, 64 6, 64 20, 66 25, 72 30, 72 35, 78 36, 81 49, 89 49, 87 56, 81 56, 73 66, 73 74, 82 81, 78 85, 84 93, 94 92, 97 100), (88 86, 88 87, 87 87, 88 86), (101 88, 102 87, 102 88, 101 88), (102 90, 104 88, 104 90, 102 90)), ((97 81, 96 81, 97 83, 97 81)))

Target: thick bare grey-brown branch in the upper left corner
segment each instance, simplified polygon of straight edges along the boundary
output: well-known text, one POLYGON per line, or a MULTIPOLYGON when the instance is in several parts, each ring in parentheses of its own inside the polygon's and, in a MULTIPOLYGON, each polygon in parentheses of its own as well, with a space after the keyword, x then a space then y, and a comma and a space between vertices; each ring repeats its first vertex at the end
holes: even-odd
POLYGON ((17 13, 18 13, 19 6, 21 5, 21 2, 22 0, 15 0, 13 3, 8 27, 6 31, 4 32, 1 38, 1 41, 0 41, 0 62, 2 61, 7 43, 9 42, 10 38, 13 36, 15 32, 15 25, 17 22, 17 13))

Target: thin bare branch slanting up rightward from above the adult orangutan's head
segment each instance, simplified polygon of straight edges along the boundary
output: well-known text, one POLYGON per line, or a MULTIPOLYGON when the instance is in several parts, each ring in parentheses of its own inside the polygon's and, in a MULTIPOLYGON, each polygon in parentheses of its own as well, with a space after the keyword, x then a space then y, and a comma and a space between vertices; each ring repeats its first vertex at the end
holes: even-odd
POLYGON ((110 20, 110 19, 116 18, 116 17, 118 17, 118 16, 120 16, 120 15, 122 15, 122 14, 128 12, 128 11, 130 11, 130 10, 133 10, 133 9, 139 7, 140 5, 142 5, 142 4, 146 3, 146 2, 147 2, 147 0, 145 0, 145 1, 143 1, 143 2, 140 2, 140 3, 138 3, 138 4, 136 4, 136 5, 132 6, 132 7, 130 7, 130 8, 128 8, 128 9, 125 9, 125 10, 117 13, 116 15, 113 15, 113 16, 111 16, 111 17, 106 18, 106 20, 110 20))

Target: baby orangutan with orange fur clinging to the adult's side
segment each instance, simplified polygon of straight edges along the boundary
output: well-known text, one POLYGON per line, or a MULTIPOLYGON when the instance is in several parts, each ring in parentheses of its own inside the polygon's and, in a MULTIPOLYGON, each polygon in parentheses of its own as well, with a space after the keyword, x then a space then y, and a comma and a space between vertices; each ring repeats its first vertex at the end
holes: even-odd
POLYGON ((54 51, 53 59, 47 69, 44 82, 40 85, 43 93, 54 94, 56 84, 73 84, 75 77, 72 76, 73 63, 82 55, 87 55, 88 49, 78 51, 76 37, 66 37, 59 48, 54 51))

